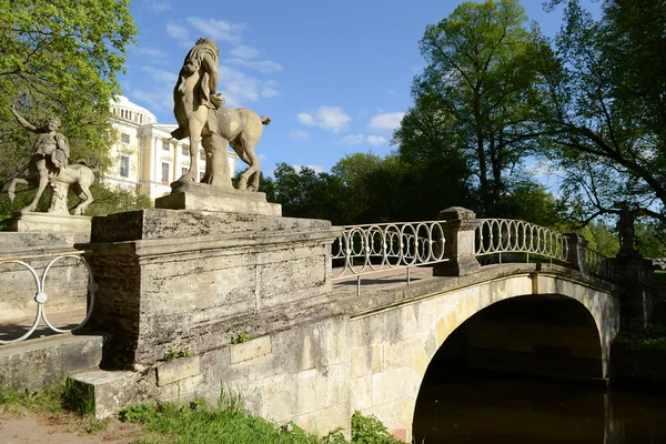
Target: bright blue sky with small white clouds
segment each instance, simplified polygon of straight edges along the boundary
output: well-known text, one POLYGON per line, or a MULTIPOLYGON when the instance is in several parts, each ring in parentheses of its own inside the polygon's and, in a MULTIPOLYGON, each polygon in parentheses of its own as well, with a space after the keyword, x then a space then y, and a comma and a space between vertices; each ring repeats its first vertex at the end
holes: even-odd
MULTIPOLYGON (((256 147, 270 173, 278 162, 326 171, 349 153, 394 150, 393 129, 412 104, 412 79, 425 65, 418 41, 426 24, 461 1, 133 3, 139 36, 128 48, 123 94, 159 122, 174 123, 172 90, 182 61, 196 38, 213 38, 228 105, 272 119, 256 147)), ((523 6, 547 36, 557 32, 562 8, 546 13, 542 0, 523 6)))

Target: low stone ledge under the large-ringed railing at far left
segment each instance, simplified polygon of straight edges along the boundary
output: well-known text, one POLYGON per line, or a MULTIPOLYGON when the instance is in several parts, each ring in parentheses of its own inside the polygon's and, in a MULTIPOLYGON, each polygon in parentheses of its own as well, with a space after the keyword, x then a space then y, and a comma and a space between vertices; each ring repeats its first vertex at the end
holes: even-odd
POLYGON ((40 389, 102 361, 104 336, 65 333, 0 345, 0 387, 40 389))

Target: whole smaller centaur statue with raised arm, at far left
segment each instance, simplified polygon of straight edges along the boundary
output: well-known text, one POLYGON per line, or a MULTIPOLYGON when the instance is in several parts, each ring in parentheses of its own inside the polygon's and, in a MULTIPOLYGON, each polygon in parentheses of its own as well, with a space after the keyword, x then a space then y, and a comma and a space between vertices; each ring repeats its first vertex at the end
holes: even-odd
POLYGON ((37 128, 23 119, 13 105, 10 105, 10 111, 23 128, 37 134, 37 140, 30 160, 29 175, 24 179, 16 178, 10 181, 8 188, 9 200, 13 201, 18 183, 33 184, 37 186, 37 194, 22 211, 34 211, 44 189, 50 183, 53 190, 48 211, 50 213, 69 214, 67 194, 71 185, 81 199, 74 206, 74 214, 82 214, 85 208, 93 202, 90 185, 94 182, 94 172, 84 162, 68 164, 69 142, 64 134, 58 132, 60 120, 49 117, 44 128, 37 128))

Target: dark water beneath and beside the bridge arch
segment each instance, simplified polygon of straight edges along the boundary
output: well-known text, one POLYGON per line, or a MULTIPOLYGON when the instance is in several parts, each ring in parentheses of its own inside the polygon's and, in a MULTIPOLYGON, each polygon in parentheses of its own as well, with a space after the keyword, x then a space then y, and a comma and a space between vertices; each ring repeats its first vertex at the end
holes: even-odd
POLYGON ((666 444, 666 395, 511 377, 431 383, 413 430, 418 444, 666 444))

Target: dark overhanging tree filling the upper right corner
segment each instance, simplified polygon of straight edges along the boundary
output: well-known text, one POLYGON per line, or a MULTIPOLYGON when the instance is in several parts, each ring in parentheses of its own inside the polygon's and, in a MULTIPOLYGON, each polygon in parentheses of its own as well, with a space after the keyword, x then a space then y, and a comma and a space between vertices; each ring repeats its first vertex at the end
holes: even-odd
POLYGON ((604 0, 595 20, 566 3, 558 63, 544 63, 539 113, 572 216, 586 223, 629 203, 666 223, 666 6, 604 0))

